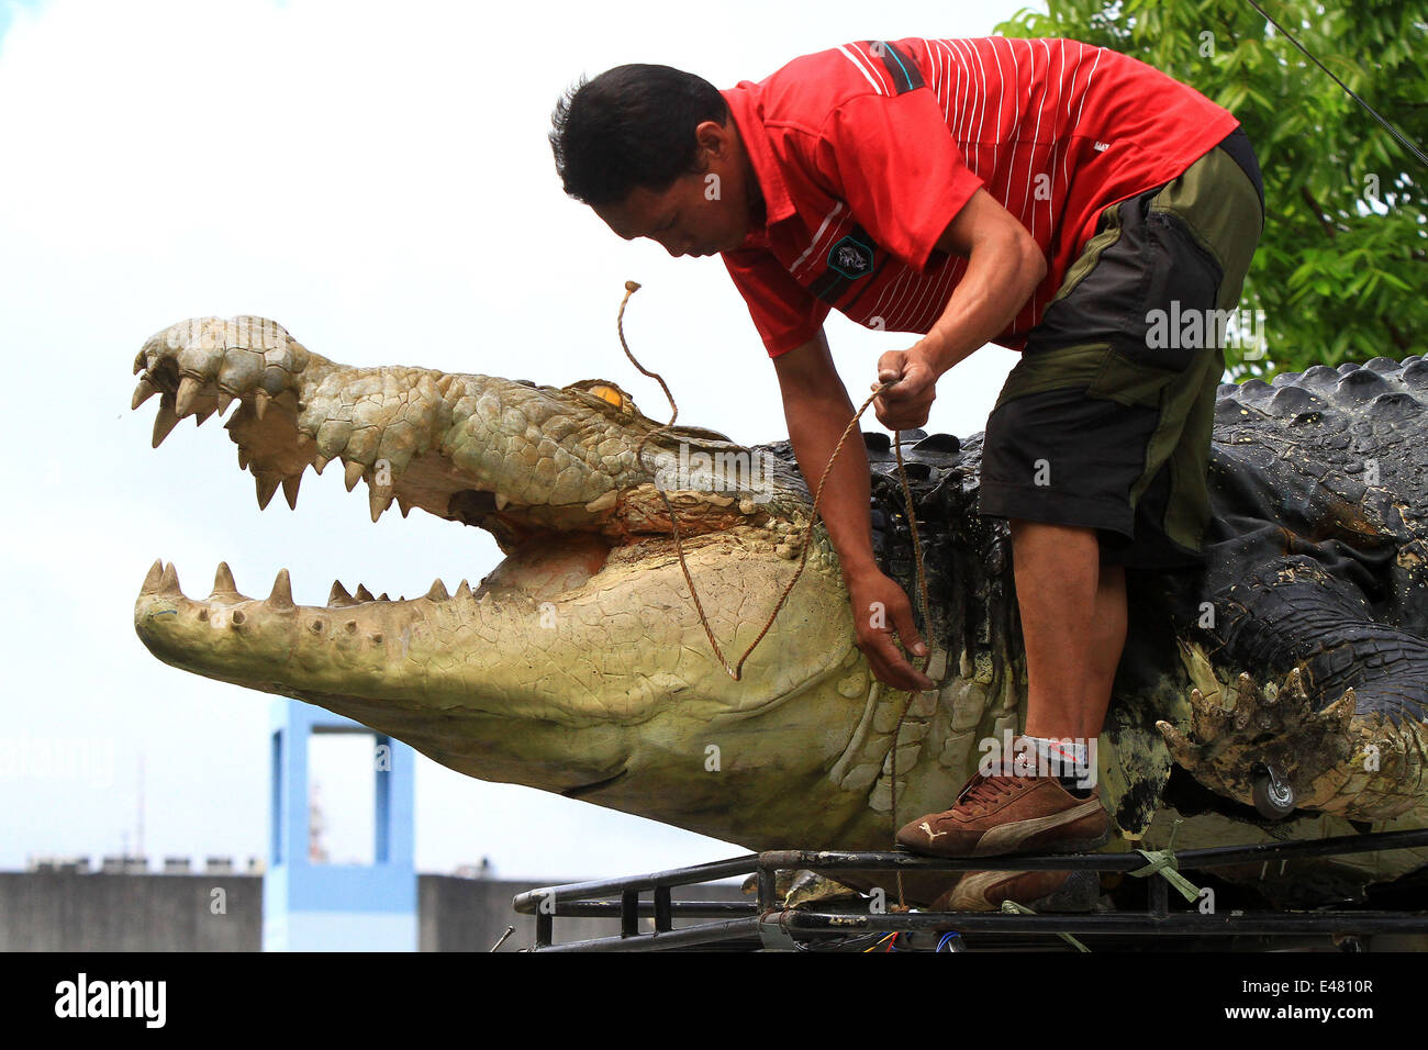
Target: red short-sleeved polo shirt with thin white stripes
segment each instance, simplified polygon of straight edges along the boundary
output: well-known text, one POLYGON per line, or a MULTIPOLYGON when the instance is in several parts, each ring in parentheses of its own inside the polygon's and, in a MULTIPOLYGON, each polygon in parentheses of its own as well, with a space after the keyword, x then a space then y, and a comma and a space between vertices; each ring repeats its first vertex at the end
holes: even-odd
POLYGON ((1020 350, 1108 204, 1172 180, 1238 121, 1135 59, 1074 40, 844 44, 721 91, 767 224, 723 254, 768 354, 830 309, 925 333, 967 271, 934 249, 980 187, 1047 277, 994 341, 1020 350))

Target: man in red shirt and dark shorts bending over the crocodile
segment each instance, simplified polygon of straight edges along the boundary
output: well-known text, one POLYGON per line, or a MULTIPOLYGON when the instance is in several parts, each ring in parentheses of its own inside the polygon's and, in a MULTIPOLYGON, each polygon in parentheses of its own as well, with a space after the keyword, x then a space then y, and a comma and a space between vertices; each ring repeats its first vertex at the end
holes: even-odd
MULTIPOLYGON (((1071 40, 861 41, 718 91, 621 66, 555 107, 565 191, 621 237, 723 256, 783 389, 814 484, 853 403, 823 320, 920 333, 878 360, 890 429, 927 421, 940 376, 988 341, 1022 353, 987 421, 980 513, 1005 517, 1028 679, 1024 736, 898 843, 941 856, 1108 840, 1094 741, 1125 639, 1125 567, 1195 564, 1222 334, 1264 223, 1235 119, 1190 87, 1071 40), (1188 329, 1187 329, 1188 331, 1188 329), (1198 331, 1207 331, 1204 326, 1198 331), (1178 336, 1180 330, 1172 333, 1178 336)), ((857 641, 897 689, 932 683, 911 603, 873 557, 861 443, 823 517, 857 641), (871 610, 885 609, 891 627, 871 610)), ((1067 873, 968 873, 955 907, 1055 901, 1067 873)))

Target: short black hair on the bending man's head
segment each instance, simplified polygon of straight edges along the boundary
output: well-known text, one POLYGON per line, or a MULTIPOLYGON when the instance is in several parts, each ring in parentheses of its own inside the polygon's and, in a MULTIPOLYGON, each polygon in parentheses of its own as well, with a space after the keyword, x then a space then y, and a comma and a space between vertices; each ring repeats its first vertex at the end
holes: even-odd
POLYGON ((663 191, 697 171, 694 129, 728 119, 710 81, 668 66, 615 66, 580 79, 551 113, 550 147, 565 193, 615 204, 635 189, 663 191))

